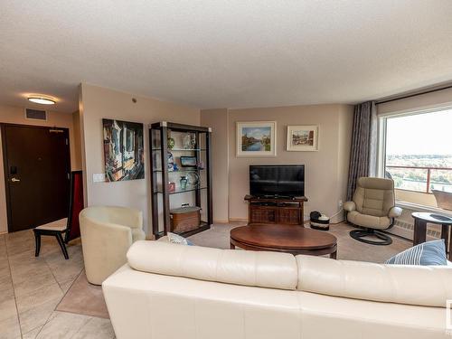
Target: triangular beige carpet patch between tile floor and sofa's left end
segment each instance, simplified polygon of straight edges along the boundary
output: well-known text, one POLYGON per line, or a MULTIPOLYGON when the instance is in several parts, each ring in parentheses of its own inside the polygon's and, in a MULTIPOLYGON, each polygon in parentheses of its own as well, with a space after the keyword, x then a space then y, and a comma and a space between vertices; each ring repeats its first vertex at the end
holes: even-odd
POLYGON ((66 295, 62 297, 56 310, 109 318, 102 287, 89 284, 84 270, 75 279, 66 295))

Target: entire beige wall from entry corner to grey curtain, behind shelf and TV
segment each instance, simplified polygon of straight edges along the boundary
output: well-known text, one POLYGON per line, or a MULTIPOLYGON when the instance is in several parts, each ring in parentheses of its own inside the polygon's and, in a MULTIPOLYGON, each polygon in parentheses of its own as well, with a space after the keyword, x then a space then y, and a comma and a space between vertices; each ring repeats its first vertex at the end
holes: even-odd
MULTIPOLYGON (((102 118, 142 122, 145 128, 155 121, 174 121, 212 127, 213 219, 247 219, 243 197, 249 191, 251 164, 305 164, 306 215, 319 210, 329 215, 338 211, 345 199, 353 108, 347 105, 296 106, 284 108, 203 109, 187 108, 156 99, 137 98, 112 89, 82 84, 80 90, 81 146, 89 205, 112 204, 135 207, 144 212, 150 233, 148 200, 149 159, 145 133, 146 179, 118 183, 93 183, 93 174, 104 173, 102 118), (236 157, 236 121, 277 120, 276 157, 236 157), (287 152, 287 125, 319 125, 318 152, 287 152)), ((340 219, 342 216, 338 216, 340 219)))

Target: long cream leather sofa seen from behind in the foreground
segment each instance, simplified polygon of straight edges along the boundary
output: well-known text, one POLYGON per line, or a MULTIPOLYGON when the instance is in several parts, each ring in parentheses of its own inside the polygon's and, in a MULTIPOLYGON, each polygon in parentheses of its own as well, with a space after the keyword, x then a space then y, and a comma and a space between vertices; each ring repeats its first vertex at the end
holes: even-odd
POLYGON ((137 241, 102 284, 118 339, 450 338, 452 268, 137 241))

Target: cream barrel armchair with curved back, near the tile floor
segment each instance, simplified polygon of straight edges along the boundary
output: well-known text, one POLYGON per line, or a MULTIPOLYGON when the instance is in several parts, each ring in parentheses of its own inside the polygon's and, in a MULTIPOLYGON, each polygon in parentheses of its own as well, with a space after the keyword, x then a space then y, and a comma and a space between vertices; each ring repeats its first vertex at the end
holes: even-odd
POLYGON ((100 285, 127 262, 127 250, 145 240, 143 213, 127 207, 92 206, 80 212, 83 259, 88 281, 100 285))

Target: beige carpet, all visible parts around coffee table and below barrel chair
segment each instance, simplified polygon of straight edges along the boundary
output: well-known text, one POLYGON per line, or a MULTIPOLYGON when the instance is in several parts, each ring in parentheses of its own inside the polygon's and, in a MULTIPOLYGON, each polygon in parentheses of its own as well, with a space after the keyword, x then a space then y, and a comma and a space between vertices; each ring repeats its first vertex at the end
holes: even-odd
MULTIPOLYGON (((243 222, 214 224, 212 229, 190 237, 195 245, 229 249, 231 229, 243 225, 243 222)), ((389 246, 374 246, 353 240, 348 234, 353 227, 340 223, 330 227, 330 233, 337 238, 337 259, 359 260, 382 263, 394 254, 410 248, 411 242, 392 237, 389 246)), ((61 299, 56 308, 58 311, 77 313, 80 315, 108 318, 108 310, 102 294, 102 288, 89 284, 85 271, 82 271, 61 299)))

